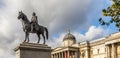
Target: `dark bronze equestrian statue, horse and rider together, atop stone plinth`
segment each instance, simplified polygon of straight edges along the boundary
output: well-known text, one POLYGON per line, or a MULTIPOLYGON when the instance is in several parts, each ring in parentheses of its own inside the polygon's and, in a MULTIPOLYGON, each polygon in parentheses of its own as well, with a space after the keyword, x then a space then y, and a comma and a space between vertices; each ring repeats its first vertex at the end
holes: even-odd
POLYGON ((38 24, 36 13, 33 12, 31 22, 28 20, 27 16, 20 11, 18 14, 18 19, 21 19, 23 31, 25 32, 25 40, 24 42, 29 43, 29 33, 36 33, 38 36, 38 42, 40 42, 40 35, 42 35, 45 44, 45 39, 48 39, 48 29, 44 26, 38 24), (46 34, 44 34, 46 33, 46 34), (46 36, 45 36, 46 35, 46 36))

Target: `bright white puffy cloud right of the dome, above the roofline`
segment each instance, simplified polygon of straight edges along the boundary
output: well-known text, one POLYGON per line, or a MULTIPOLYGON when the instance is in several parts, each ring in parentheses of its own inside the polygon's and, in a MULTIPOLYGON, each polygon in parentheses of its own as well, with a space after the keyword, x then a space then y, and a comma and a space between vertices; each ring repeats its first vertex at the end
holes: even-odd
POLYGON ((90 26, 88 31, 83 35, 79 32, 73 33, 76 36, 77 42, 90 41, 106 36, 106 30, 102 27, 90 26))

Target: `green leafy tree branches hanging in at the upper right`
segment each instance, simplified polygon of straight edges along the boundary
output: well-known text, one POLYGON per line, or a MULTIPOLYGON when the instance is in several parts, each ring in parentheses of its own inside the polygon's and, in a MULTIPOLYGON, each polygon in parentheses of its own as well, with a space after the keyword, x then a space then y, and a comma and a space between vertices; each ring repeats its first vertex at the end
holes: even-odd
POLYGON ((112 0, 113 4, 107 9, 103 9, 103 16, 109 16, 111 19, 108 22, 105 22, 104 19, 100 18, 99 22, 101 25, 107 25, 109 26, 111 23, 115 23, 115 26, 120 31, 120 1, 119 0, 112 0))

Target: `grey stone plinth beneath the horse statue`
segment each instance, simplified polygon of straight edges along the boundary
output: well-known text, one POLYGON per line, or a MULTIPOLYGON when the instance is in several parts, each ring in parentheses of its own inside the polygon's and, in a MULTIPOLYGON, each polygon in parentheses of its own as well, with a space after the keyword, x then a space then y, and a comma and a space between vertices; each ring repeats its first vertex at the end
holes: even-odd
POLYGON ((51 47, 43 44, 23 43, 14 50, 16 58, 51 58, 51 47))

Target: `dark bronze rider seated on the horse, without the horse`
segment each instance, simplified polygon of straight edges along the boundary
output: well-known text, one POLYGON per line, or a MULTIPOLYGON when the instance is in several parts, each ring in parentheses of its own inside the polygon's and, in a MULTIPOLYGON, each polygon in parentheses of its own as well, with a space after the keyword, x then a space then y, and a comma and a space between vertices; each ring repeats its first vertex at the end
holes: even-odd
POLYGON ((36 16, 36 13, 33 12, 32 19, 31 19, 31 32, 35 32, 36 30, 38 30, 37 25, 38 25, 37 16, 36 16))

